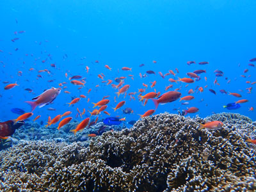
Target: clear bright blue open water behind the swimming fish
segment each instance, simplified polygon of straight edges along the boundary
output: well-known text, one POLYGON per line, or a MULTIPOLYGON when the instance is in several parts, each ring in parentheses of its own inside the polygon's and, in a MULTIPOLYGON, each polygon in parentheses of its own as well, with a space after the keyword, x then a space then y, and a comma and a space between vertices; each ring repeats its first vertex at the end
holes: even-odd
MULTIPOLYGON (((81 75, 87 78, 85 88, 78 91, 77 86, 68 83, 67 90, 71 94, 62 91, 54 104, 36 108, 33 117, 42 115, 41 120, 45 121, 48 115, 53 117, 70 109, 72 116, 76 116, 77 107, 80 110, 85 108, 86 111, 92 111, 91 102, 99 101, 104 95, 111 95, 111 102, 106 111, 113 116, 126 116, 128 121, 137 120, 138 114, 154 109, 153 102, 149 100, 143 107, 137 97, 136 100, 129 101, 127 96, 122 109, 131 107, 134 109, 134 115, 123 115, 121 109, 114 113, 111 108, 116 105, 113 102, 116 90, 101 83, 102 80, 97 75, 102 72, 106 80, 134 75, 134 81, 131 77, 125 79, 125 84, 131 84, 128 93, 138 92, 138 88, 143 88, 142 83, 150 85, 149 82, 156 80, 157 92, 164 93, 165 86, 170 84, 168 79, 173 76, 162 79, 158 72, 166 74, 168 70, 175 71, 175 68, 178 68, 179 77, 186 77, 186 72, 196 69, 207 70, 206 74, 202 74, 201 81, 189 84, 187 88, 186 84, 181 83, 182 96, 187 95, 190 88, 205 85, 217 93, 212 94, 208 88, 203 93, 194 93, 195 99, 189 101, 189 107, 199 108, 196 114, 204 117, 212 112, 228 111, 222 106, 239 98, 221 94, 219 90, 224 89, 227 92, 241 93, 242 99, 249 100, 241 104, 240 109, 232 112, 250 116, 255 120, 255 111, 248 111, 250 107, 256 108, 255 90, 250 94, 246 93, 246 88, 252 86, 255 89, 255 85, 245 83, 256 81, 255 68, 248 66, 248 60, 256 57, 255 8, 256 1, 239 0, 1 1, 0 49, 3 52, 0 52, 0 61, 3 63, 0 79, 1 82, 17 81, 20 86, 4 90, 6 84, 0 83, 0 119, 4 121, 16 118, 18 115, 10 112, 11 108, 30 111, 30 106, 24 101, 31 100, 51 86, 58 87, 58 83, 68 82, 65 72, 70 71, 68 76, 81 75), (22 30, 26 33, 14 34, 14 31, 22 30), (16 37, 20 39, 12 42, 16 37), (15 51, 16 48, 19 50, 15 51), (42 60, 46 59, 47 61, 42 63, 42 60), (99 63, 95 63, 95 60, 99 60, 99 63), (152 63, 153 60, 157 63, 152 63), (187 61, 196 61, 196 65, 188 66, 187 61), (198 65, 200 61, 209 61, 209 65, 198 65), (51 63, 55 63, 57 68, 52 68, 51 63), (138 67, 141 63, 145 63, 145 66, 138 67), (109 65, 112 71, 104 65, 109 65), (90 67, 88 74, 86 66, 90 67), (36 70, 29 71, 31 67, 36 70), (132 72, 120 70, 122 67, 132 67, 132 72), (41 73, 43 78, 36 79, 37 71, 44 68, 51 70, 51 75, 41 73), (230 84, 227 84, 225 77, 218 77, 220 86, 214 86, 213 71, 217 68, 230 79, 230 84), (251 77, 241 77, 245 68, 249 69, 245 75, 251 77), (23 72, 22 76, 17 76, 19 70, 23 72), (147 78, 141 79, 139 73, 145 74, 147 70, 156 71, 156 76, 148 75, 147 78), (204 76, 207 77, 207 82, 204 76), (48 83, 50 79, 55 80, 48 83), (96 84, 100 87, 95 88, 96 84), (35 95, 25 91, 25 88, 31 88, 35 95), (70 102, 71 96, 87 95, 89 88, 92 88, 88 95, 89 103, 87 99, 82 99, 74 107, 68 108, 66 103, 70 102), (200 102, 201 99, 204 101, 200 102), (48 107, 56 108, 56 111, 48 111, 48 107)), ((179 86, 180 83, 174 83, 170 90, 179 86)), ((153 90, 148 88, 147 93, 153 90)), ((117 102, 124 100, 123 97, 124 95, 120 96, 117 102)), ((173 108, 186 107, 177 100, 159 106, 156 113, 177 113, 173 108)), ((102 113, 102 117, 106 115, 102 113)))

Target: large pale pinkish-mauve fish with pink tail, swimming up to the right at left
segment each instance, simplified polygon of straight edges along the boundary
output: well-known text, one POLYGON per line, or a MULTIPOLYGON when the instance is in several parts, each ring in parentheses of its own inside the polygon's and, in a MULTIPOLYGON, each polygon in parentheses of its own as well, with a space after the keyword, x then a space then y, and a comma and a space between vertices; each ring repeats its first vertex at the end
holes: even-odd
POLYGON ((36 101, 25 101, 31 106, 31 111, 33 111, 36 106, 39 106, 39 108, 44 107, 45 105, 52 103, 54 99, 60 94, 61 89, 60 88, 54 88, 52 87, 49 90, 46 90, 41 95, 33 98, 32 100, 36 101))

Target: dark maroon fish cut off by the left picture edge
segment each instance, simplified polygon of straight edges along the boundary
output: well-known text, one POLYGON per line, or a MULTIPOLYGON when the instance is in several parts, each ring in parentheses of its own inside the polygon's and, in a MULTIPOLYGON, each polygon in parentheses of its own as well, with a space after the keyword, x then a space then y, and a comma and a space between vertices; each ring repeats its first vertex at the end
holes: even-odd
POLYGON ((7 122, 0 123, 0 138, 11 136, 16 129, 18 129, 20 126, 24 124, 24 121, 20 121, 14 124, 13 120, 8 120, 7 122))

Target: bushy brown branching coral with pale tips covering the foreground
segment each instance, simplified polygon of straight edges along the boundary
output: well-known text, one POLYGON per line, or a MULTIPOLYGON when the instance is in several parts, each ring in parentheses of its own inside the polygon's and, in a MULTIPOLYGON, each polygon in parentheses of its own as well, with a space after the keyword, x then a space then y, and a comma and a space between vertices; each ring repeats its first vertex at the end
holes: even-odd
POLYGON ((248 143, 227 127, 198 131, 196 121, 202 122, 163 113, 139 120, 132 129, 105 132, 88 147, 23 141, 0 154, 0 188, 255 191, 256 156, 248 143))

